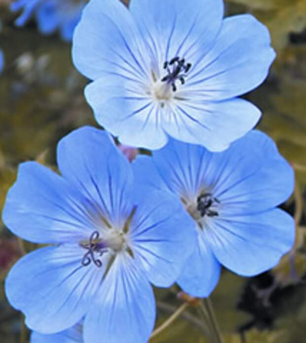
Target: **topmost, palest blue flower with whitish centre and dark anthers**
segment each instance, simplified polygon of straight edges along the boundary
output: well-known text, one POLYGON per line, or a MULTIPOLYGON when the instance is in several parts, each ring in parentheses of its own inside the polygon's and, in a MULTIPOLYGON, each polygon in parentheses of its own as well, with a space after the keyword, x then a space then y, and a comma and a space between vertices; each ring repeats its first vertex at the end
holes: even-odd
POLYGON ((168 137, 222 151, 257 123, 237 98, 275 57, 251 15, 223 19, 222 0, 91 0, 73 39, 96 120, 121 143, 159 149, 168 137))

